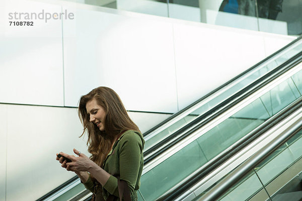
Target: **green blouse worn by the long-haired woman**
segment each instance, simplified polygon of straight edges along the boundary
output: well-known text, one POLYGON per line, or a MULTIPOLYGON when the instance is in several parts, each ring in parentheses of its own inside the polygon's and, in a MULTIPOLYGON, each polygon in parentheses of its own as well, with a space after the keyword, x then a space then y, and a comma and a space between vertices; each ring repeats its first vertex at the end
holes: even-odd
MULTIPOLYGON (((140 186, 140 176, 143 167, 143 145, 144 140, 140 133, 136 131, 126 131, 114 143, 112 150, 106 157, 103 169, 111 176, 106 184, 97 191, 103 191, 106 200, 110 194, 119 196, 117 187, 117 177, 127 182, 131 200, 137 200, 137 190, 140 186)), ((85 187, 90 191, 94 191, 94 183, 91 177, 84 183, 85 187)))

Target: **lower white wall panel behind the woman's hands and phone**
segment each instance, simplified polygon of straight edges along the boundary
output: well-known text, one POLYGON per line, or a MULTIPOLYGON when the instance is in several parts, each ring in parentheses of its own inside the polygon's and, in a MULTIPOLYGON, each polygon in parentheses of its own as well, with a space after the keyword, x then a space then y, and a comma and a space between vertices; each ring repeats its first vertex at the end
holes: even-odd
POLYGON ((36 200, 75 174, 55 154, 87 154, 77 110, 8 105, 7 201, 36 200))

